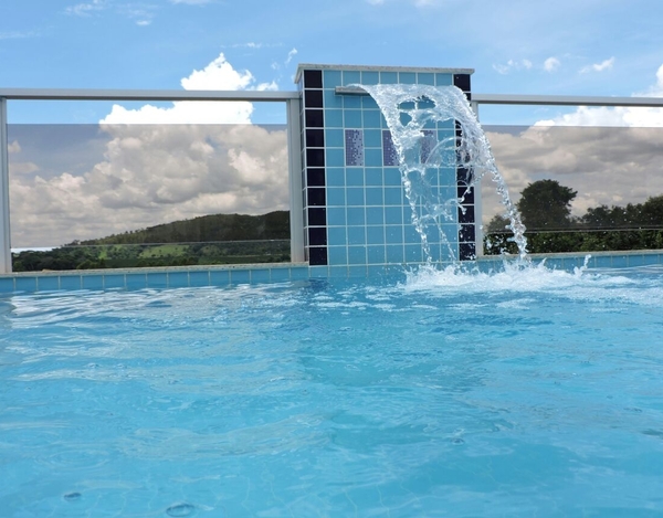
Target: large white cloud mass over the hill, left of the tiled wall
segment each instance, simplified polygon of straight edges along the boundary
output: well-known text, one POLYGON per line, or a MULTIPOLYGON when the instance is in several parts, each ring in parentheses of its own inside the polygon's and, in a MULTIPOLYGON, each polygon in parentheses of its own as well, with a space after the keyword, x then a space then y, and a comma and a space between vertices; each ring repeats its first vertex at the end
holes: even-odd
MULTIPOLYGON (((223 54, 181 84, 275 87, 235 71, 223 54)), ((104 159, 86 172, 46 175, 39 163, 12 162, 12 245, 60 245, 204 214, 287 209, 286 131, 251 125, 252 109, 243 102, 114 106, 101 121, 108 136, 104 159)), ((10 146, 20 151, 18 141, 10 146)))

